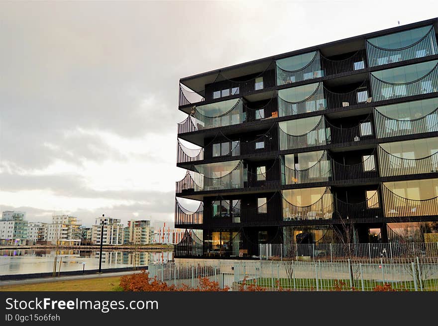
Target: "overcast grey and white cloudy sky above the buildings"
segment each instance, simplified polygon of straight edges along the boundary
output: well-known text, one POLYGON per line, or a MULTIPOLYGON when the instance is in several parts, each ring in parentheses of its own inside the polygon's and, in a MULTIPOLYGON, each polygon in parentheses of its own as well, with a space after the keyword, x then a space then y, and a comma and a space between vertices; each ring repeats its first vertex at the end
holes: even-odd
POLYGON ((172 220, 180 78, 438 16, 403 2, 0 1, 0 211, 172 220))

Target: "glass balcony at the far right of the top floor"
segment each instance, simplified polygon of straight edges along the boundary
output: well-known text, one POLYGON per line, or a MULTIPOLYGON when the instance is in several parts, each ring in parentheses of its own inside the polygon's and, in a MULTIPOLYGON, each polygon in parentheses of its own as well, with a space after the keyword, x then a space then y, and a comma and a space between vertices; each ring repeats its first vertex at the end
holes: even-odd
POLYGON ((434 26, 424 26, 366 40, 369 67, 438 53, 434 26))

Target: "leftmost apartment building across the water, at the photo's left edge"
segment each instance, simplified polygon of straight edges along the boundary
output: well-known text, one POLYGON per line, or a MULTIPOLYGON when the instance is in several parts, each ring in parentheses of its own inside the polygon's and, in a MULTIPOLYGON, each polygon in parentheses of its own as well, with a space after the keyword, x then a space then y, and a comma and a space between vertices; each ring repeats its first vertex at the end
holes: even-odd
POLYGON ((5 211, 0 219, 0 244, 24 245, 27 242, 25 212, 5 211))

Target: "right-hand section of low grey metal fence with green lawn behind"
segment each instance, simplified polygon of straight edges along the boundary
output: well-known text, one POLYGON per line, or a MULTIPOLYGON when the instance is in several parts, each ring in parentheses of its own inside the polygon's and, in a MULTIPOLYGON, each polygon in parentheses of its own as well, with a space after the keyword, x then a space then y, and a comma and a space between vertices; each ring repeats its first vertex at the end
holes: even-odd
POLYGON ((234 264, 234 288, 256 284, 291 291, 438 291, 438 260, 245 261, 234 264))

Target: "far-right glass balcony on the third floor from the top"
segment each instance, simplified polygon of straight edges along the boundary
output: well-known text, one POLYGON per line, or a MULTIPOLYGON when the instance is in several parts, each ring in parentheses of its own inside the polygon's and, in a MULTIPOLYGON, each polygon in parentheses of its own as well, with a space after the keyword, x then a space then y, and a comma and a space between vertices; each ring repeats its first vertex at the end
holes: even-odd
POLYGON ((438 98, 374 108, 377 138, 438 131, 438 98))

